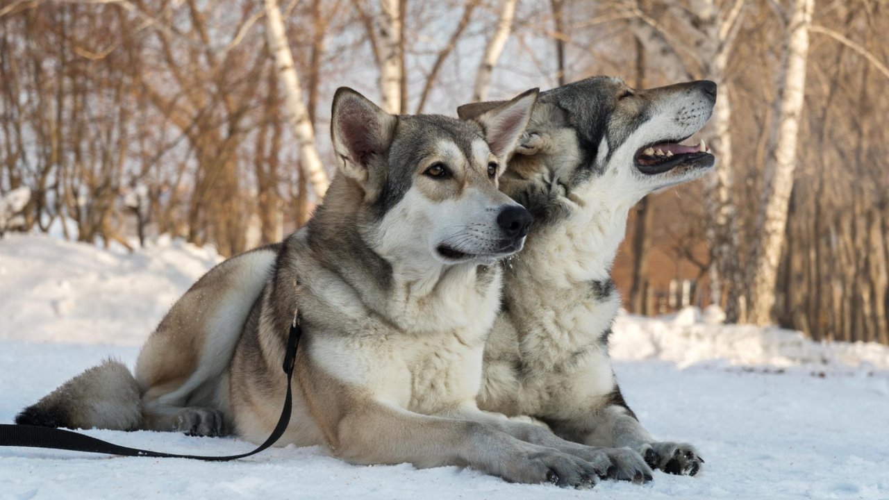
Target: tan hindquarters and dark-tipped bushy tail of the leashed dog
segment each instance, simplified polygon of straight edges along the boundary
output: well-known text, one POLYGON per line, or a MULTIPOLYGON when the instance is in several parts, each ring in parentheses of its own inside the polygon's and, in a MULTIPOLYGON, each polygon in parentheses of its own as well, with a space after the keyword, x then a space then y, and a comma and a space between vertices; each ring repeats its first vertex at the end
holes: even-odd
POLYGON ((278 249, 264 246, 236 255, 197 280, 148 337, 135 376, 120 361, 109 359, 22 410, 15 423, 224 433, 226 368, 252 302, 274 269, 278 249), (216 418, 201 419, 194 412, 216 418))

